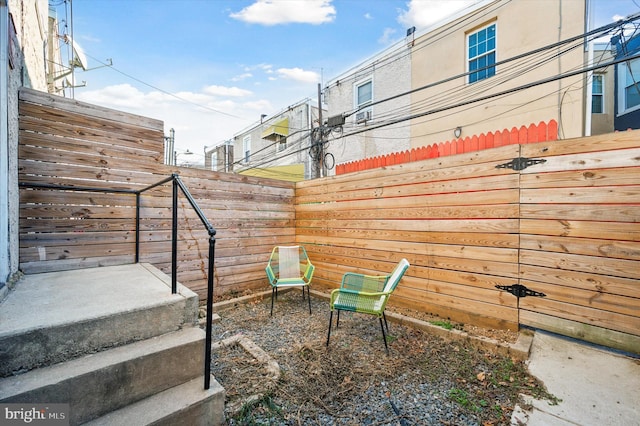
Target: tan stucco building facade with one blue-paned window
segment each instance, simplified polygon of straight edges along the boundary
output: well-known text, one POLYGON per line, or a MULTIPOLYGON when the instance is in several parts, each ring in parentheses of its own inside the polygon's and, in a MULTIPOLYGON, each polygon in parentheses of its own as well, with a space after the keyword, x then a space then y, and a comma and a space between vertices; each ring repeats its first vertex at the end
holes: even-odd
POLYGON ((561 42, 585 32, 585 12, 578 0, 499 0, 417 37, 411 146, 552 119, 561 139, 582 136, 585 77, 532 83, 584 66, 584 41, 561 42))

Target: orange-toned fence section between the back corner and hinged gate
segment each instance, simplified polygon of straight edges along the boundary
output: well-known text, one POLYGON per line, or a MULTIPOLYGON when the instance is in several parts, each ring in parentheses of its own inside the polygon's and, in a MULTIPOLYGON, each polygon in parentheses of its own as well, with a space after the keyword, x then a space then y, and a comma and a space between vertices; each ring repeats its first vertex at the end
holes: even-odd
POLYGON ((296 238, 335 287, 344 272, 411 267, 392 302, 444 318, 518 327, 517 145, 299 182, 296 238))

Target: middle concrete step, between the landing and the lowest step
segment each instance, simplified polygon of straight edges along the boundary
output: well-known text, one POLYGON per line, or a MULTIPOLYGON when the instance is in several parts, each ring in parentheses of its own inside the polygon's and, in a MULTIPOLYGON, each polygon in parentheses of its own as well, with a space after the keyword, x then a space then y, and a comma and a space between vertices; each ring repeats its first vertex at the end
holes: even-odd
POLYGON ((187 327, 0 379, 0 402, 68 403, 80 424, 192 379, 204 388, 204 346, 204 331, 187 327))

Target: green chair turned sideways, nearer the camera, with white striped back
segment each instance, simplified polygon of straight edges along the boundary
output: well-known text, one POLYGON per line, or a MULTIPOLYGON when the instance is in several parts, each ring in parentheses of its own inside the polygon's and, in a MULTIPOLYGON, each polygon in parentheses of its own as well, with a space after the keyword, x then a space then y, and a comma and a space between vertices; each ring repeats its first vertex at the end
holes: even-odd
POLYGON ((347 272, 342 277, 340 288, 331 292, 331 314, 329 316, 329 333, 327 334, 327 346, 331 337, 331 323, 333 321, 333 311, 337 311, 336 328, 340 323, 340 311, 360 312, 363 314, 375 315, 380 319, 382 328, 382 339, 384 348, 389 353, 387 346, 387 332, 389 324, 384 314, 387 301, 400 282, 405 271, 409 268, 407 259, 402 259, 389 275, 363 275, 347 272), (382 322, 384 320, 384 324, 382 322))

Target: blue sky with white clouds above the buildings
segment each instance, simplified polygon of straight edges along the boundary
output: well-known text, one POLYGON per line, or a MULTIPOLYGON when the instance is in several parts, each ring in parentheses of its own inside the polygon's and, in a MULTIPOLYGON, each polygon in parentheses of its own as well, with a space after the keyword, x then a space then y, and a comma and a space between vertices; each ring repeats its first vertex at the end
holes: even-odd
MULTIPOLYGON (((70 8, 52 0, 58 19, 73 22, 90 69, 76 73, 86 86, 75 98, 163 120, 195 162, 204 146, 261 114, 316 103, 318 83, 404 39, 407 28, 420 31, 475 2, 73 0, 70 8), (97 68, 107 59, 113 67, 97 68)), ((595 26, 640 11, 640 0, 592 4, 595 26)))

